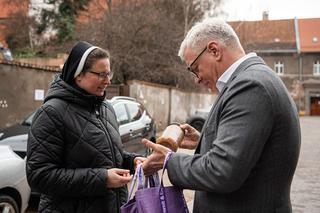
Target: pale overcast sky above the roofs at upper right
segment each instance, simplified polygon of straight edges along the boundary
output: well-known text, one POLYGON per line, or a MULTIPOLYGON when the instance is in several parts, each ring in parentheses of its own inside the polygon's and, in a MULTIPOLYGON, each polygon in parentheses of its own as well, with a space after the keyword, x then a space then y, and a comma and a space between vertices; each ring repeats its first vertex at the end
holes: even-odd
POLYGON ((269 11, 269 19, 320 18, 320 0, 224 0, 222 7, 228 21, 261 20, 269 11))

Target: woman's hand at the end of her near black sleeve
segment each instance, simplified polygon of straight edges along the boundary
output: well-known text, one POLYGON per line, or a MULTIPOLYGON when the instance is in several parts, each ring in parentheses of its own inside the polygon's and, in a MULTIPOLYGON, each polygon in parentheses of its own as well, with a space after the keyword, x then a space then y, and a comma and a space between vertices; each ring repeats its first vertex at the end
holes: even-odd
POLYGON ((112 168, 108 169, 107 173, 108 188, 119 188, 129 183, 132 179, 132 175, 127 169, 112 168))

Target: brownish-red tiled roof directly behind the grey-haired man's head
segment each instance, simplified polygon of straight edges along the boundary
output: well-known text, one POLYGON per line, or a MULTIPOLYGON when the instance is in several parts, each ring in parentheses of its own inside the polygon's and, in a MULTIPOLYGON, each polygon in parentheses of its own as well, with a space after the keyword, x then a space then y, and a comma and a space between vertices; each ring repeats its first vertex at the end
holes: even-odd
POLYGON ((229 22, 246 51, 297 52, 294 19, 229 22))

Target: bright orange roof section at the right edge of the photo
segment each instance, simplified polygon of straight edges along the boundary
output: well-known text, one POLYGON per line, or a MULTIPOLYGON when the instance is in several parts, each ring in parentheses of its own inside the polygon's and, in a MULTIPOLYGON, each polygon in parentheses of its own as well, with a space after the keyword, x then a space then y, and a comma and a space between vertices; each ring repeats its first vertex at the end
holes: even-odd
POLYGON ((320 18, 299 19, 301 52, 320 52, 320 18))

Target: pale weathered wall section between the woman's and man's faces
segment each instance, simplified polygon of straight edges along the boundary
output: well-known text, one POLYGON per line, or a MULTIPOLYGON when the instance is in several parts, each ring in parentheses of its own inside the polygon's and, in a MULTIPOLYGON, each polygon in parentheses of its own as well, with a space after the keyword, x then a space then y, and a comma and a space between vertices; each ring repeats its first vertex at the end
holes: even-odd
POLYGON ((216 95, 190 93, 173 87, 141 81, 129 81, 130 96, 138 99, 162 130, 172 122, 184 123, 196 109, 212 106, 216 95))

